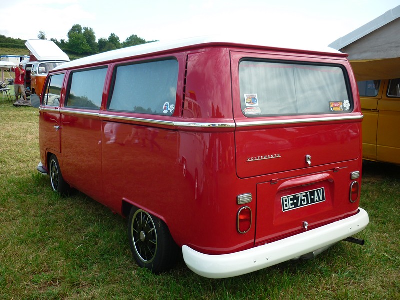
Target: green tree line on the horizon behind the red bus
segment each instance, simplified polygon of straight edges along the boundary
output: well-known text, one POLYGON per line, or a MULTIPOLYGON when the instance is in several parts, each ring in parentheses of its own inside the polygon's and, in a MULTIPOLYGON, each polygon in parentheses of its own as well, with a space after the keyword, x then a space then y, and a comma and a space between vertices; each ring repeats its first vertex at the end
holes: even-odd
MULTIPOLYGON (((71 27, 71 29, 69 29, 67 37, 67 40, 61 39, 58 41, 55 38, 50 38, 50 40, 57 44, 66 53, 76 54, 79 56, 92 55, 156 41, 146 41, 144 38, 141 38, 136 34, 132 34, 126 38, 125 41, 121 42, 115 33, 111 33, 108 38, 99 38, 97 40, 92 28, 82 27, 79 24, 75 24, 71 27)), ((37 38, 47 39, 46 33, 44 31, 39 31, 37 38)), ((26 40, 0 35, 0 45, 4 48, 23 49, 25 48, 25 42, 26 40)))

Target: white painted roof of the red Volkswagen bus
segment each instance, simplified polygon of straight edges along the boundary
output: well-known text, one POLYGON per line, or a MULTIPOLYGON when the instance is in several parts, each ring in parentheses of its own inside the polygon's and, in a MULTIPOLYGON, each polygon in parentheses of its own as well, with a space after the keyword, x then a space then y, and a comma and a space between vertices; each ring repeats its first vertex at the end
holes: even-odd
POLYGON ((99 54, 95 54, 92 56, 87 56, 83 58, 79 58, 76 60, 72 60, 60 66, 54 68, 54 70, 65 69, 69 67, 81 66, 86 64, 94 64, 103 61, 110 61, 114 59, 120 59, 125 57, 133 57, 137 55, 144 55, 149 53, 156 53, 166 50, 178 49, 186 46, 194 46, 201 44, 211 44, 211 43, 228 43, 232 45, 252 45, 252 46, 262 46, 267 48, 285 48, 285 49, 293 49, 293 50, 306 50, 312 52, 322 52, 322 53, 334 53, 341 54, 341 52, 322 46, 320 48, 311 48, 307 45, 295 45, 290 43, 282 43, 278 42, 270 42, 267 37, 260 40, 259 38, 253 39, 250 37, 244 37, 238 39, 237 37, 229 37, 229 36, 219 36, 219 35, 211 35, 211 36, 199 36, 199 37, 191 37, 179 40, 169 40, 169 41, 157 41, 145 43, 137 46, 131 46, 126 48, 121 48, 117 50, 112 50, 108 52, 103 52, 99 54))

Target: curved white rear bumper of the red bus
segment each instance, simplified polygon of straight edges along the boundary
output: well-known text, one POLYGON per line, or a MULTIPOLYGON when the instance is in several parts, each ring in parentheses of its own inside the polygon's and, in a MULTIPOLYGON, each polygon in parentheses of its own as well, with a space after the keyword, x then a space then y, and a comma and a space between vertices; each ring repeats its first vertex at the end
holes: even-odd
POLYGON ((183 245, 183 259, 193 272, 201 276, 208 278, 233 277, 334 244, 360 232, 368 223, 368 213, 359 208, 357 214, 340 221, 240 252, 208 255, 183 245))

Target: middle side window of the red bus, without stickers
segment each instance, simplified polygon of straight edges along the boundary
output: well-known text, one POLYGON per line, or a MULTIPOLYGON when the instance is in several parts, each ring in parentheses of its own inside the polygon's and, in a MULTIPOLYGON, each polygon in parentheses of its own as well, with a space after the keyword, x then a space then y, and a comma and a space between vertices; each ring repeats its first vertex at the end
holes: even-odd
POLYGON ((66 107, 100 109, 107 68, 72 72, 66 107))

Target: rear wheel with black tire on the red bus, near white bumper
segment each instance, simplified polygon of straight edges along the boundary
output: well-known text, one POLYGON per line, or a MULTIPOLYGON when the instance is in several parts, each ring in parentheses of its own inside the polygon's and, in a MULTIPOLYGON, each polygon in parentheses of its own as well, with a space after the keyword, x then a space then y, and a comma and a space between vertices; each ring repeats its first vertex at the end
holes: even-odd
POLYGON ((175 265, 180 249, 166 224, 159 218, 132 207, 128 234, 133 258, 140 267, 157 274, 175 265))

